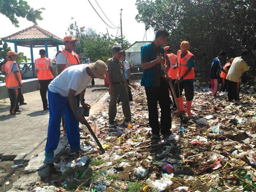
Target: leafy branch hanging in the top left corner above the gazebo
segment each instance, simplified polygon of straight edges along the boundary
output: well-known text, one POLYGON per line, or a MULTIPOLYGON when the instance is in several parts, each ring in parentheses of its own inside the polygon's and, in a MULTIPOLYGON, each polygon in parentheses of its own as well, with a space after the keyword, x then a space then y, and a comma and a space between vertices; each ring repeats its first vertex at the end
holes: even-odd
POLYGON ((34 10, 23 0, 0 0, 0 13, 10 19, 15 27, 19 27, 18 17, 26 18, 37 25, 37 20, 42 20, 44 8, 34 10))

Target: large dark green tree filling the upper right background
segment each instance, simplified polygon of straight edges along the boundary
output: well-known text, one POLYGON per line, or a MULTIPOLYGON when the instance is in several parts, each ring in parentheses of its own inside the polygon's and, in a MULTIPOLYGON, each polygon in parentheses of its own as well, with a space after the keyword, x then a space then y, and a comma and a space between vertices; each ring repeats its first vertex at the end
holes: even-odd
POLYGON ((202 78, 209 78, 210 63, 221 50, 231 58, 246 48, 252 53, 248 63, 256 61, 255 0, 137 0, 136 5, 136 19, 146 29, 170 31, 174 53, 181 41, 190 42, 202 78))

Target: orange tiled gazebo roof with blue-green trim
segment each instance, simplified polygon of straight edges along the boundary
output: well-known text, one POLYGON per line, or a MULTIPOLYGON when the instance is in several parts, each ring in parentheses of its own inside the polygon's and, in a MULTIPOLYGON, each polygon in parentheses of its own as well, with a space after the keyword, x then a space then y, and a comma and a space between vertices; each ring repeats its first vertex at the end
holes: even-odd
POLYGON ((18 46, 25 47, 45 46, 45 41, 47 41, 49 47, 63 45, 63 39, 37 25, 18 31, 17 33, 9 35, 3 39, 5 42, 16 42, 18 46))

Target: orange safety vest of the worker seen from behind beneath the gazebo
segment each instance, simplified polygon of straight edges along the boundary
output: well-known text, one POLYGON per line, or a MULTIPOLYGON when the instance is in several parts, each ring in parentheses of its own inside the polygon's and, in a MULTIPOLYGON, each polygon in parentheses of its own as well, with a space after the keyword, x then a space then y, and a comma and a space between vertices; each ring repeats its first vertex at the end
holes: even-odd
POLYGON ((35 70, 38 70, 37 78, 39 80, 53 79, 53 74, 51 74, 51 70, 49 69, 50 62, 50 58, 35 59, 35 70))

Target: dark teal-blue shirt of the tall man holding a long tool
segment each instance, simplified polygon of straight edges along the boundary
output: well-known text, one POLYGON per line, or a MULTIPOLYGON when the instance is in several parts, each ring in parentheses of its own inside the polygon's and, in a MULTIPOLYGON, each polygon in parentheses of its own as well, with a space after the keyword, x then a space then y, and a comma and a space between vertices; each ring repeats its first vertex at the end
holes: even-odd
MULTIPOLYGON (((157 58, 158 53, 163 55, 163 52, 163 47, 155 46, 154 42, 147 44, 141 49, 141 62, 154 61, 157 58)), ((145 87, 159 87, 160 79, 163 77, 164 73, 161 69, 161 64, 159 63, 149 69, 143 70, 141 85, 145 87)))

